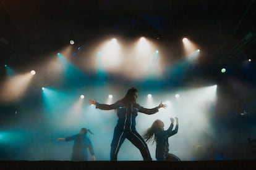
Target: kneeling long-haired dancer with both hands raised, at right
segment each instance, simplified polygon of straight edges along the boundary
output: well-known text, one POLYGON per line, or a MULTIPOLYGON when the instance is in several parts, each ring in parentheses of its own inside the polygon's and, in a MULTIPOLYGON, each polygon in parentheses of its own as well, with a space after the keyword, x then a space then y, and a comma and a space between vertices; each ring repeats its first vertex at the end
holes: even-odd
POLYGON ((143 139, 146 142, 156 142, 156 160, 157 161, 180 161, 180 159, 169 153, 168 138, 177 133, 179 129, 178 118, 176 118, 176 127, 173 130, 174 118, 171 118, 169 128, 164 131, 164 123, 160 119, 153 122, 150 128, 143 133, 143 139))

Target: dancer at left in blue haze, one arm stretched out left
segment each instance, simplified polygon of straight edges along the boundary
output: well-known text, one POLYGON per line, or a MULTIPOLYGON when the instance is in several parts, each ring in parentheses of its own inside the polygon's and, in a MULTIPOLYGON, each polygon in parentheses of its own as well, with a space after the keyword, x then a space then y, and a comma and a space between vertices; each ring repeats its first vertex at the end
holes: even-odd
POLYGON ((87 137, 87 132, 93 134, 89 129, 81 128, 79 134, 74 136, 58 138, 58 140, 72 141, 74 140, 73 152, 71 161, 88 161, 88 151, 92 155, 92 160, 95 161, 95 154, 91 140, 87 137))

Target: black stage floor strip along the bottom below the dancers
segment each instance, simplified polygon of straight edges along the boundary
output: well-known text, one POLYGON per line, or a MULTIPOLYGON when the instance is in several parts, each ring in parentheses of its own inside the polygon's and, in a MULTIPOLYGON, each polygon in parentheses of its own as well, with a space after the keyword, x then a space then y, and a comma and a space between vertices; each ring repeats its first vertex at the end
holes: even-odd
POLYGON ((255 169, 255 160, 232 161, 0 161, 0 169, 255 169))

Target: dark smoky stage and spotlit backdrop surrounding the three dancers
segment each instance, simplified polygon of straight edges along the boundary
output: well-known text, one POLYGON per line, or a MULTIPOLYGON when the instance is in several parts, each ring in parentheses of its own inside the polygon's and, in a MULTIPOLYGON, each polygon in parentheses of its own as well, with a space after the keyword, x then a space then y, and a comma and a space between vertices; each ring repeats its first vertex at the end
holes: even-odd
POLYGON ((254 166, 255 6, 253 0, 0 0, 0 169, 254 166), (143 162, 129 141, 119 162, 108 161, 116 113, 87 100, 113 103, 130 87, 144 107, 168 105, 140 114, 139 133, 155 119, 167 128, 170 117, 179 118, 169 145, 181 162, 156 162, 154 144, 148 144, 153 162, 143 162), (56 140, 81 127, 95 134, 89 137, 96 162, 70 162, 73 143, 56 140))

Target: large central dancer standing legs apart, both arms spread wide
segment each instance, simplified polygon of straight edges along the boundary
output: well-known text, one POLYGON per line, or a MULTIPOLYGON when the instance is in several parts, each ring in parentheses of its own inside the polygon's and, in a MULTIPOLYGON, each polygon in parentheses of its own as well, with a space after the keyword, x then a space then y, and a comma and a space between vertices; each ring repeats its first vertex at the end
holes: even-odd
POLYGON ((166 108, 167 105, 160 103, 160 105, 155 108, 143 108, 136 103, 137 97, 138 91, 132 87, 127 91, 123 99, 118 100, 112 105, 101 104, 96 102, 96 100, 89 100, 90 104, 96 105, 96 108, 101 110, 117 110, 118 120, 116 127, 114 128, 114 136, 111 142, 111 161, 117 161, 117 153, 125 139, 130 140, 135 147, 139 148, 144 161, 152 160, 146 142, 135 129, 135 118, 138 115, 138 112, 151 115, 158 112, 159 108, 166 108))

